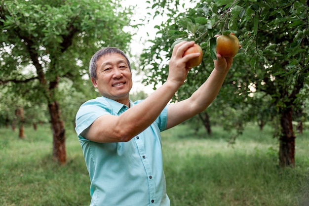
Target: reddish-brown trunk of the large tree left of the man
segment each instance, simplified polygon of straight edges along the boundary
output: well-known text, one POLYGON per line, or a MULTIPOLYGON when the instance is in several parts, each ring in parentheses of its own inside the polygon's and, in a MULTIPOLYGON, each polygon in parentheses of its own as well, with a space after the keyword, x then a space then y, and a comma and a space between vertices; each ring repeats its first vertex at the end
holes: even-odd
POLYGON ((67 161, 66 145, 65 145, 65 129, 63 121, 60 119, 59 103, 53 101, 48 104, 51 127, 53 132, 53 158, 60 164, 67 161))

